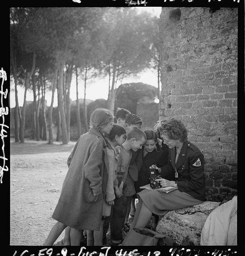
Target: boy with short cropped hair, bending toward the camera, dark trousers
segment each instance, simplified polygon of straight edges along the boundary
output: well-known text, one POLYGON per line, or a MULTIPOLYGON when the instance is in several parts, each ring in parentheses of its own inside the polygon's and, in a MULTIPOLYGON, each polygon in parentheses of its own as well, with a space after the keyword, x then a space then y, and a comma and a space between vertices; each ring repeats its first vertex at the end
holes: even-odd
POLYGON ((128 168, 132 158, 132 152, 136 152, 146 141, 146 134, 143 130, 139 128, 133 128, 127 133, 126 141, 123 143, 121 148, 116 147, 119 152, 119 166, 117 170, 118 187, 122 192, 122 197, 115 198, 115 204, 113 206, 113 213, 110 222, 111 227, 111 240, 112 245, 118 245, 121 243, 123 238, 122 229, 124 225, 124 220, 128 207, 128 197, 130 202, 132 196, 127 196, 127 191, 129 194, 134 190, 134 182, 128 182, 130 179, 130 174, 128 173, 128 168))

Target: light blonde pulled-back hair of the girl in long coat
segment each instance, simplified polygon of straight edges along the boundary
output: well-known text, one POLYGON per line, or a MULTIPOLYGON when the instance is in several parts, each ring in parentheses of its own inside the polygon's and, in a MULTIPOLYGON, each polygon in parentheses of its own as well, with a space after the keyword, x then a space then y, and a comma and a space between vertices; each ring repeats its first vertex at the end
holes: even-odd
POLYGON ((114 116, 106 108, 96 108, 90 116, 89 127, 102 132, 103 126, 113 120, 114 116))

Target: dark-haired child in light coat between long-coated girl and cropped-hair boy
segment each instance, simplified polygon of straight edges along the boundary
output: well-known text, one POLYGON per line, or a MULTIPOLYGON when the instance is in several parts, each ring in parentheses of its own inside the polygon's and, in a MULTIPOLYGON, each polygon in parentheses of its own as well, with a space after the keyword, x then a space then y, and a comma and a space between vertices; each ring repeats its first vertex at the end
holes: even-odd
POLYGON ((111 216, 111 208, 114 205, 116 196, 121 197, 122 193, 118 188, 117 180, 117 167, 118 167, 118 152, 116 146, 122 146, 126 138, 126 130, 123 126, 113 124, 111 132, 106 135, 109 139, 107 147, 107 155, 109 161, 108 182, 105 194, 105 202, 103 204, 103 219, 101 221, 101 229, 99 231, 87 230, 87 245, 88 246, 101 246, 103 244, 103 226, 109 222, 111 216))

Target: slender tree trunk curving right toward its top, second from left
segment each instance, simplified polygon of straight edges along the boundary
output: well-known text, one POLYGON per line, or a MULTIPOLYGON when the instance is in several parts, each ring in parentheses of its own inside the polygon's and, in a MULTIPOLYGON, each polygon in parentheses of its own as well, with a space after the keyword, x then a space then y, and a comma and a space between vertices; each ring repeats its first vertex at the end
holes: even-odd
POLYGON ((25 122, 26 122, 26 92, 29 86, 29 81, 30 81, 30 77, 32 76, 34 69, 36 66, 36 53, 34 52, 33 54, 33 60, 32 60, 32 70, 30 71, 30 73, 28 74, 28 76, 26 77, 25 80, 25 93, 24 93, 24 103, 23 103, 23 107, 22 107, 22 112, 21 112, 21 121, 20 121, 20 142, 24 143, 25 142, 25 122))

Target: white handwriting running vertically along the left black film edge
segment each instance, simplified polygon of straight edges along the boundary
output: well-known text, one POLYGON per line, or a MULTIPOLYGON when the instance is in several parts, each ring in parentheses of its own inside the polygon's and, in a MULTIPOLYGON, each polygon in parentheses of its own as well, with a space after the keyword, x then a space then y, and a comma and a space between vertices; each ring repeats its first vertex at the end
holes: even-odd
POLYGON ((7 75, 6 75, 6 72, 3 70, 3 68, 0 70, 0 78, 2 78, 2 84, 1 84, 1 90, 0 90, 0 94, 1 94, 0 116, 2 116, 2 123, 0 124, 0 126, 2 127, 0 132, 0 137, 2 139, 2 156, 0 156, 0 158, 3 159, 3 165, 0 166, 0 182, 2 183, 3 172, 8 171, 8 166, 5 167, 5 161, 8 159, 5 157, 5 152, 4 152, 4 138, 7 137, 7 135, 4 134, 4 132, 6 132, 4 128, 5 127, 8 128, 8 126, 4 124, 4 115, 8 115, 8 107, 4 108, 3 106, 3 96, 5 99, 7 98, 8 89, 6 89, 5 92, 3 91, 4 81, 7 80, 7 75))

